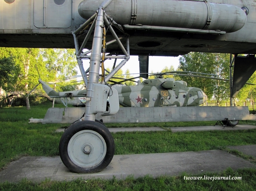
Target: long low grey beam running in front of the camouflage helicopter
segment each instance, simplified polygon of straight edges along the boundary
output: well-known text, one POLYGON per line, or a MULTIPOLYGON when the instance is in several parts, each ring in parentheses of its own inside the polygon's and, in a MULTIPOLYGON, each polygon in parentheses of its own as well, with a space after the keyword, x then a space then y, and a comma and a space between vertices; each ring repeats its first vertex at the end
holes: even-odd
MULTIPOLYGON (((49 108, 44 119, 29 119, 30 122, 42 123, 72 123, 81 118, 84 108, 49 108)), ((250 115, 248 106, 217 107, 121 107, 115 115, 96 115, 96 119, 104 123, 136 123, 136 122, 168 122, 168 121, 222 121, 256 120, 256 115, 250 115)))

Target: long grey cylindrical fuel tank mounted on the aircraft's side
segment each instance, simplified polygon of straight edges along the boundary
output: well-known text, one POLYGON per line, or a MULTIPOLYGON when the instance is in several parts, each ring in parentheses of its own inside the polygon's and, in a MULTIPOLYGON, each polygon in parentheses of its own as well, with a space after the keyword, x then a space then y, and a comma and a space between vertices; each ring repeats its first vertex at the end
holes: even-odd
MULTIPOLYGON (((82 18, 91 17, 103 0, 84 0, 78 7, 82 18)), ((121 25, 154 25, 236 32, 246 23, 237 6, 203 0, 113 0, 106 13, 121 25)))

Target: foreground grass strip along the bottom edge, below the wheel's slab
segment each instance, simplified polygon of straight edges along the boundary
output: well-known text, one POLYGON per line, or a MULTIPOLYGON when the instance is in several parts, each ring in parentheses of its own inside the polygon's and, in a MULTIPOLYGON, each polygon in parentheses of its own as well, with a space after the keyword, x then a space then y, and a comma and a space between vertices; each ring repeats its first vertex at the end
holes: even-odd
MULTIPOLYGON (((103 179, 76 179, 71 182, 58 182, 45 180, 41 183, 34 183, 29 180, 20 181, 18 184, 0 184, 0 190, 4 191, 255 191, 256 169, 243 169, 233 171, 227 169, 222 173, 205 173, 197 175, 202 180, 186 180, 184 176, 191 176, 183 173, 176 177, 142 178, 127 177, 125 180, 118 180, 115 177, 110 180, 103 179), (207 177, 241 177, 241 180, 207 180, 207 177)), ((195 177, 195 175, 193 175, 195 177)))

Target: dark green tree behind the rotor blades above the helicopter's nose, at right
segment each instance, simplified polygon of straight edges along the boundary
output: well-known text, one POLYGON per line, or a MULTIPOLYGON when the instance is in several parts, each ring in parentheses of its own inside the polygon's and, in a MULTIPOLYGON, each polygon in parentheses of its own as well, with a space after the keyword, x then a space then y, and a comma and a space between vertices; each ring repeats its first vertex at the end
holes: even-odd
MULTIPOLYGON (((229 54, 190 52, 180 58, 179 69, 183 71, 215 74, 229 78, 229 54)), ((213 79, 182 76, 189 86, 201 88, 209 99, 219 104, 229 98, 229 83, 213 79)))

